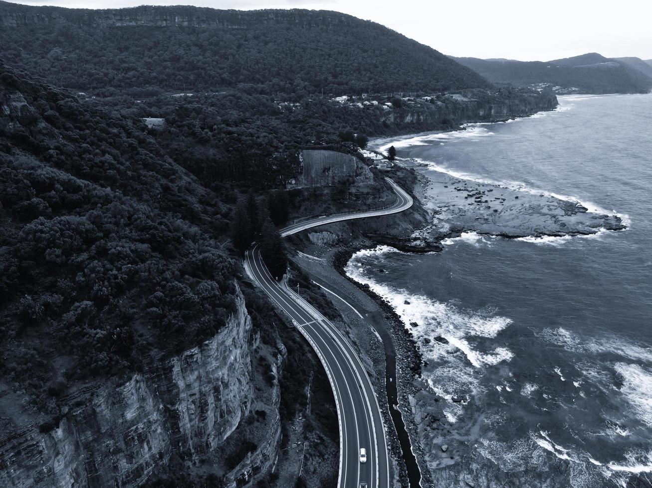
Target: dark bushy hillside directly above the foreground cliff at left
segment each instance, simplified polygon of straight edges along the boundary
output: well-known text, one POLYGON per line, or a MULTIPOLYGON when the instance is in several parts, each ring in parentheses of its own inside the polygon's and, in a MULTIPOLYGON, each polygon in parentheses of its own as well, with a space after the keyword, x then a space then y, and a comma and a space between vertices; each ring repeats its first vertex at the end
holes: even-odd
POLYGON ((139 119, 0 64, 3 379, 56 390, 213 336, 234 306, 228 211, 139 119))

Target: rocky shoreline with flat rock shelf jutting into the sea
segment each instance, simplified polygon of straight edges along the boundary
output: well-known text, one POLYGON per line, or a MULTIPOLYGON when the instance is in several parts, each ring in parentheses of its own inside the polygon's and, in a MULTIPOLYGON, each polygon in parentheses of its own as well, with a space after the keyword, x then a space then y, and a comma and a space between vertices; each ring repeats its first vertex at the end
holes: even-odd
MULTIPOLYGON (((375 243, 389 245, 402 252, 441 251, 446 239, 455 239, 466 233, 506 239, 544 239, 591 236, 627 228, 623 217, 600 209, 589 210, 588 206, 578 201, 521 188, 462 180, 432 171, 428 165, 415 161, 402 161, 402 165, 417 169, 413 193, 425 203, 424 208, 430 213, 432 223, 415 230, 409 238, 366 234, 375 243)), ((403 410, 407 411, 404 412, 406 428, 413 439, 414 451, 419 455, 424 480, 430 480, 430 485, 437 487, 458 484, 473 487, 478 483, 484 485, 481 480, 486 484, 489 479, 507 481, 505 472, 498 465, 477 456, 471 456, 471 459, 465 447, 466 442, 473 442, 475 438, 474 431, 482 422, 481 412, 471 413, 473 420, 464 426, 453 426, 447 420, 443 413, 447 402, 438 398, 419 378, 423 364, 419 344, 385 299, 346 275, 344 267, 351 256, 361 249, 373 247, 365 245, 341 251, 334 264, 341 275, 374 299, 391 318, 393 327, 389 329, 397 344, 397 351, 399 347, 406 351, 405 354, 397 354, 397 381, 400 402, 403 410), (406 405, 409 405, 409 409, 406 405), (425 466, 428 469, 423 469, 425 466), (435 472, 437 480, 433 478, 435 472)), ((469 399, 460 396, 450 400, 467 403, 469 399)), ((563 470, 563 466, 556 465, 556 469, 563 470)), ((526 476, 522 481, 527 483, 533 480, 526 476)))

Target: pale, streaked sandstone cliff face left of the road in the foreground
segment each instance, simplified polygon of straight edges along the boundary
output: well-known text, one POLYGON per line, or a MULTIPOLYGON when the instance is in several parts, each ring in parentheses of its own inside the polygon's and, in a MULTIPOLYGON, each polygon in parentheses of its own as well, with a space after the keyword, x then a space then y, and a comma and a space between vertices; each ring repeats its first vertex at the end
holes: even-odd
MULTIPOLYGON (((200 346, 153 364, 123 383, 95 383, 70 394, 59 426, 42 433, 34 424, 0 437, 3 487, 124 487, 143 483, 175 455, 190 466, 219 454, 253 402, 252 350, 256 337, 244 299, 226 327, 200 346)), ((274 365, 277 368, 280 363, 274 365)), ((267 442, 226 474, 267 471, 280 439, 278 385, 270 386, 267 442)), ((261 430, 263 430, 261 427, 261 430)))

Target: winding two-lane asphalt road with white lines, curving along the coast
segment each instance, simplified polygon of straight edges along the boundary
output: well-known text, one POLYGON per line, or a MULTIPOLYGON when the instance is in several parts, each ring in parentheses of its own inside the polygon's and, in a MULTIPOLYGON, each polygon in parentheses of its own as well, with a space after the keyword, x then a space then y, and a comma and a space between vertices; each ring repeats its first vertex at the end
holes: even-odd
MULTIPOLYGON (((410 208, 412 197, 389 178, 396 202, 387 208, 317 217, 291 224, 280 231, 286 237, 302 230, 334 222, 390 215, 410 208)), ((338 488, 389 487, 389 455, 378 398, 349 340, 318 310, 271 276, 254 243, 244 256, 248 276, 285 312, 317 353, 333 388, 340 427, 340 475, 338 488), (360 449, 367 461, 360 462, 360 449)))

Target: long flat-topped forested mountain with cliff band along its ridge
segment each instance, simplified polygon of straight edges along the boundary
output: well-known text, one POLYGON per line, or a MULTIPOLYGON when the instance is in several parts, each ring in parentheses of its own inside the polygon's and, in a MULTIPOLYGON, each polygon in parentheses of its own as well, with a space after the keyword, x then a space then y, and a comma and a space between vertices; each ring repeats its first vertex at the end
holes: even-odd
POLYGON ((264 94, 340 95, 488 86, 431 47, 338 12, 0 2, 0 25, 7 62, 80 90, 254 85, 264 94))

